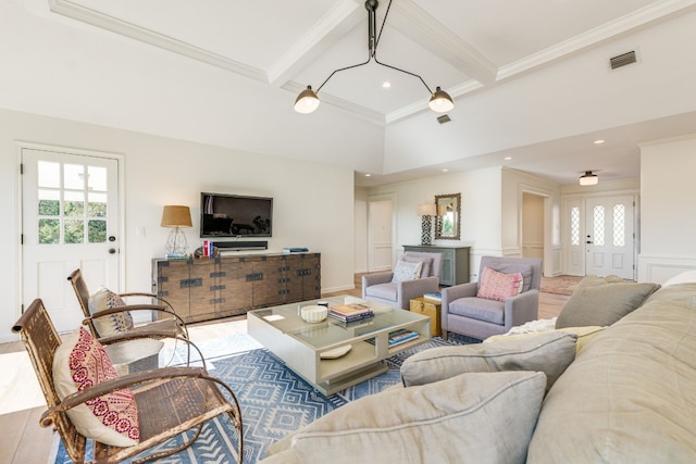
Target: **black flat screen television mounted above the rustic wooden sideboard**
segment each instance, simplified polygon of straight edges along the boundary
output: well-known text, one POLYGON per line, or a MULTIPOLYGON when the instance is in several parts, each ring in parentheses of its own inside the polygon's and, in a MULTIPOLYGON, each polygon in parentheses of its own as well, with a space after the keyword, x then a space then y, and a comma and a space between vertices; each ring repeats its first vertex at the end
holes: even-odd
POLYGON ((273 199, 240 195, 200 195, 201 237, 271 237, 273 199))

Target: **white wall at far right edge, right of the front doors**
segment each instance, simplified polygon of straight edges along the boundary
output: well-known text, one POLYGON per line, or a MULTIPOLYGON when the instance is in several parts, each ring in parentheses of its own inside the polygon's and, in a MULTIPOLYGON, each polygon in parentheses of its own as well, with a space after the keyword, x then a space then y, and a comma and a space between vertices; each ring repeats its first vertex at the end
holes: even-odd
POLYGON ((696 134, 641 146, 638 280, 696 268, 696 134))

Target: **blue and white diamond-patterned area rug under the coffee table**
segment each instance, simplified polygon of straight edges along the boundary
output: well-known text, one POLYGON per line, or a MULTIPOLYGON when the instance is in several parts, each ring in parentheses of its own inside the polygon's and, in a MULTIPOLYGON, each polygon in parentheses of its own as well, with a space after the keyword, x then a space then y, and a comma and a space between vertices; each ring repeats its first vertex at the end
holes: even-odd
MULTIPOLYGON (((253 464, 265 456, 266 448, 324 414, 368 394, 373 394, 400 381, 399 367, 408 356, 434 347, 468 344, 478 340, 452 335, 448 341, 442 338, 406 350, 386 360, 387 372, 325 397, 285 366, 266 349, 215 359, 208 362, 211 374, 222 378, 237 396, 244 426, 244 463, 253 464)), ((235 463, 235 439, 227 434, 233 427, 226 416, 217 417, 203 426, 196 442, 177 454, 154 461, 158 464, 235 463)), ((182 437, 174 438, 160 448, 174 447, 182 437)), ((55 464, 72 461, 59 440, 55 440, 55 464)))

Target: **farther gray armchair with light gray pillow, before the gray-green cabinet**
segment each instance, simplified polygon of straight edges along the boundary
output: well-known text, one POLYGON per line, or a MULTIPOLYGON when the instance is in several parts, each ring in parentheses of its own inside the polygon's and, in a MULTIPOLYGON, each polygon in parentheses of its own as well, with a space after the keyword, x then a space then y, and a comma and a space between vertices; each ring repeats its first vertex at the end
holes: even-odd
POLYGON ((376 301, 408 310, 411 299, 422 297, 431 291, 437 291, 439 288, 439 273, 443 267, 442 253, 407 251, 403 253, 402 260, 422 262, 421 278, 393 283, 394 273, 362 276, 363 300, 376 301))

